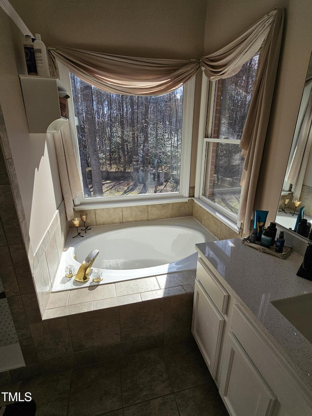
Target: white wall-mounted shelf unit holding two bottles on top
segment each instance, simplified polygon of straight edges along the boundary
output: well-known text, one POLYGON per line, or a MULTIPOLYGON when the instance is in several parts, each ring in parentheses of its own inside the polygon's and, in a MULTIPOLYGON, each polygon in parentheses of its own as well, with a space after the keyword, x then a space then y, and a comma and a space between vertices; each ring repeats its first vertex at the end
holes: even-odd
POLYGON ((29 133, 59 133, 62 125, 69 122, 60 114, 59 97, 67 92, 59 79, 20 75, 20 85, 29 133))

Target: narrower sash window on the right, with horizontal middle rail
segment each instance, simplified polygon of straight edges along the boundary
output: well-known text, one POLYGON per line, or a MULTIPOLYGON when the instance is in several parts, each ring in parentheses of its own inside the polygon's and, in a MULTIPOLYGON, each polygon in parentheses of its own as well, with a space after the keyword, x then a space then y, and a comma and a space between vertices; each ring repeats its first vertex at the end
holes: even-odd
POLYGON ((209 89, 202 147, 200 196, 231 220, 237 219, 244 159, 238 147, 253 94, 258 56, 231 78, 205 85, 209 89))

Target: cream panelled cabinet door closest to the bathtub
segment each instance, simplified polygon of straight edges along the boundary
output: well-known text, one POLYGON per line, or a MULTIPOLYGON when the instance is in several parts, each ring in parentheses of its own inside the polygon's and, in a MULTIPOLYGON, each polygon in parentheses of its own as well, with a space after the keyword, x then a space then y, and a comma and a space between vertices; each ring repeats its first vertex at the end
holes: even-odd
POLYGON ((223 324, 224 318, 199 281, 195 280, 192 333, 213 378, 218 365, 223 324))

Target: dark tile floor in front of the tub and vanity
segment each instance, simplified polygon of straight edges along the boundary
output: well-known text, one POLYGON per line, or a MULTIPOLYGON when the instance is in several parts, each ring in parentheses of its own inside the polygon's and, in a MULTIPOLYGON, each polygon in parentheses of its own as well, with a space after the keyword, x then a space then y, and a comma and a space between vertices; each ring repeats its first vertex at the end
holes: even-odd
POLYGON ((30 392, 36 416, 228 416, 194 340, 4 388, 30 392))

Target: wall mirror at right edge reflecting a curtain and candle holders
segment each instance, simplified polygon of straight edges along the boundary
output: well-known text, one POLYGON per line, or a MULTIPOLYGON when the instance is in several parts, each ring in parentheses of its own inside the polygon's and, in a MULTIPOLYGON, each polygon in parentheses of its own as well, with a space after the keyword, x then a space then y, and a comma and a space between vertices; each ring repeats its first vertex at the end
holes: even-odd
POLYGON ((302 207, 304 218, 312 222, 312 57, 292 139, 276 223, 294 230, 297 214, 302 207))

